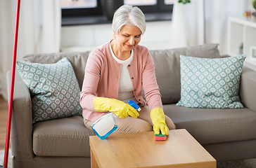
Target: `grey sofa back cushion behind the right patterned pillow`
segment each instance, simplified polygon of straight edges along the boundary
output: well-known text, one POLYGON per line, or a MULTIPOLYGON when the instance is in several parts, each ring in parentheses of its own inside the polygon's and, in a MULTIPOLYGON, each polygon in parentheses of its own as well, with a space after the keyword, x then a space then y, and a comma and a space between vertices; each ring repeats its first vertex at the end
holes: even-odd
POLYGON ((162 104, 177 103, 181 98, 179 55, 207 58, 220 57, 218 44, 151 50, 150 52, 155 64, 155 76, 162 94, 162 104))

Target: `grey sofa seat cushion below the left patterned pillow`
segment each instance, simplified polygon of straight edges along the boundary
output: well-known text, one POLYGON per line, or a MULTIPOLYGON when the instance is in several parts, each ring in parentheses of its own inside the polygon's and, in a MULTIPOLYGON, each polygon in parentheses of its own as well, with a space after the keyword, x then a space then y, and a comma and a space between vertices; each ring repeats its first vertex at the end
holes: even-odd
POLYGON ((38 156, 90 157, 89 136, 81 116, 48 120, 33 125, 33 152, 38 156))

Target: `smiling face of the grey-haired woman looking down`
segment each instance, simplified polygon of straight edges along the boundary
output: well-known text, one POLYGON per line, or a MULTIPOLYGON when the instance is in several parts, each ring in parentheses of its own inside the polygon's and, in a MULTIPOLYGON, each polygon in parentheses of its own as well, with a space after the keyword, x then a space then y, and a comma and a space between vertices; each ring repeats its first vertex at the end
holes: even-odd
POLYGON ((136 26, 124 25, 119 34, 115 34, 115 45, 122 51, 132 51, 141 41, 141 29, 136 26))

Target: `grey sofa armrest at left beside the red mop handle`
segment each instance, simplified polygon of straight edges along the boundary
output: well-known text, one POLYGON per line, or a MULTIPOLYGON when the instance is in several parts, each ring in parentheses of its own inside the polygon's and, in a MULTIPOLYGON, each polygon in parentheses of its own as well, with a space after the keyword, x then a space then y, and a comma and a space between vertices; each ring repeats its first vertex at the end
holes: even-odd
MULTIPOLYGON (((11 87, 11 71, 6 74, 8 90, 11 87)), ((11 118, 11 149, 20 164, 31 162, 32 151, 32 106, 30 90, 18 71, 15 73, 13 113, 11 118)))

